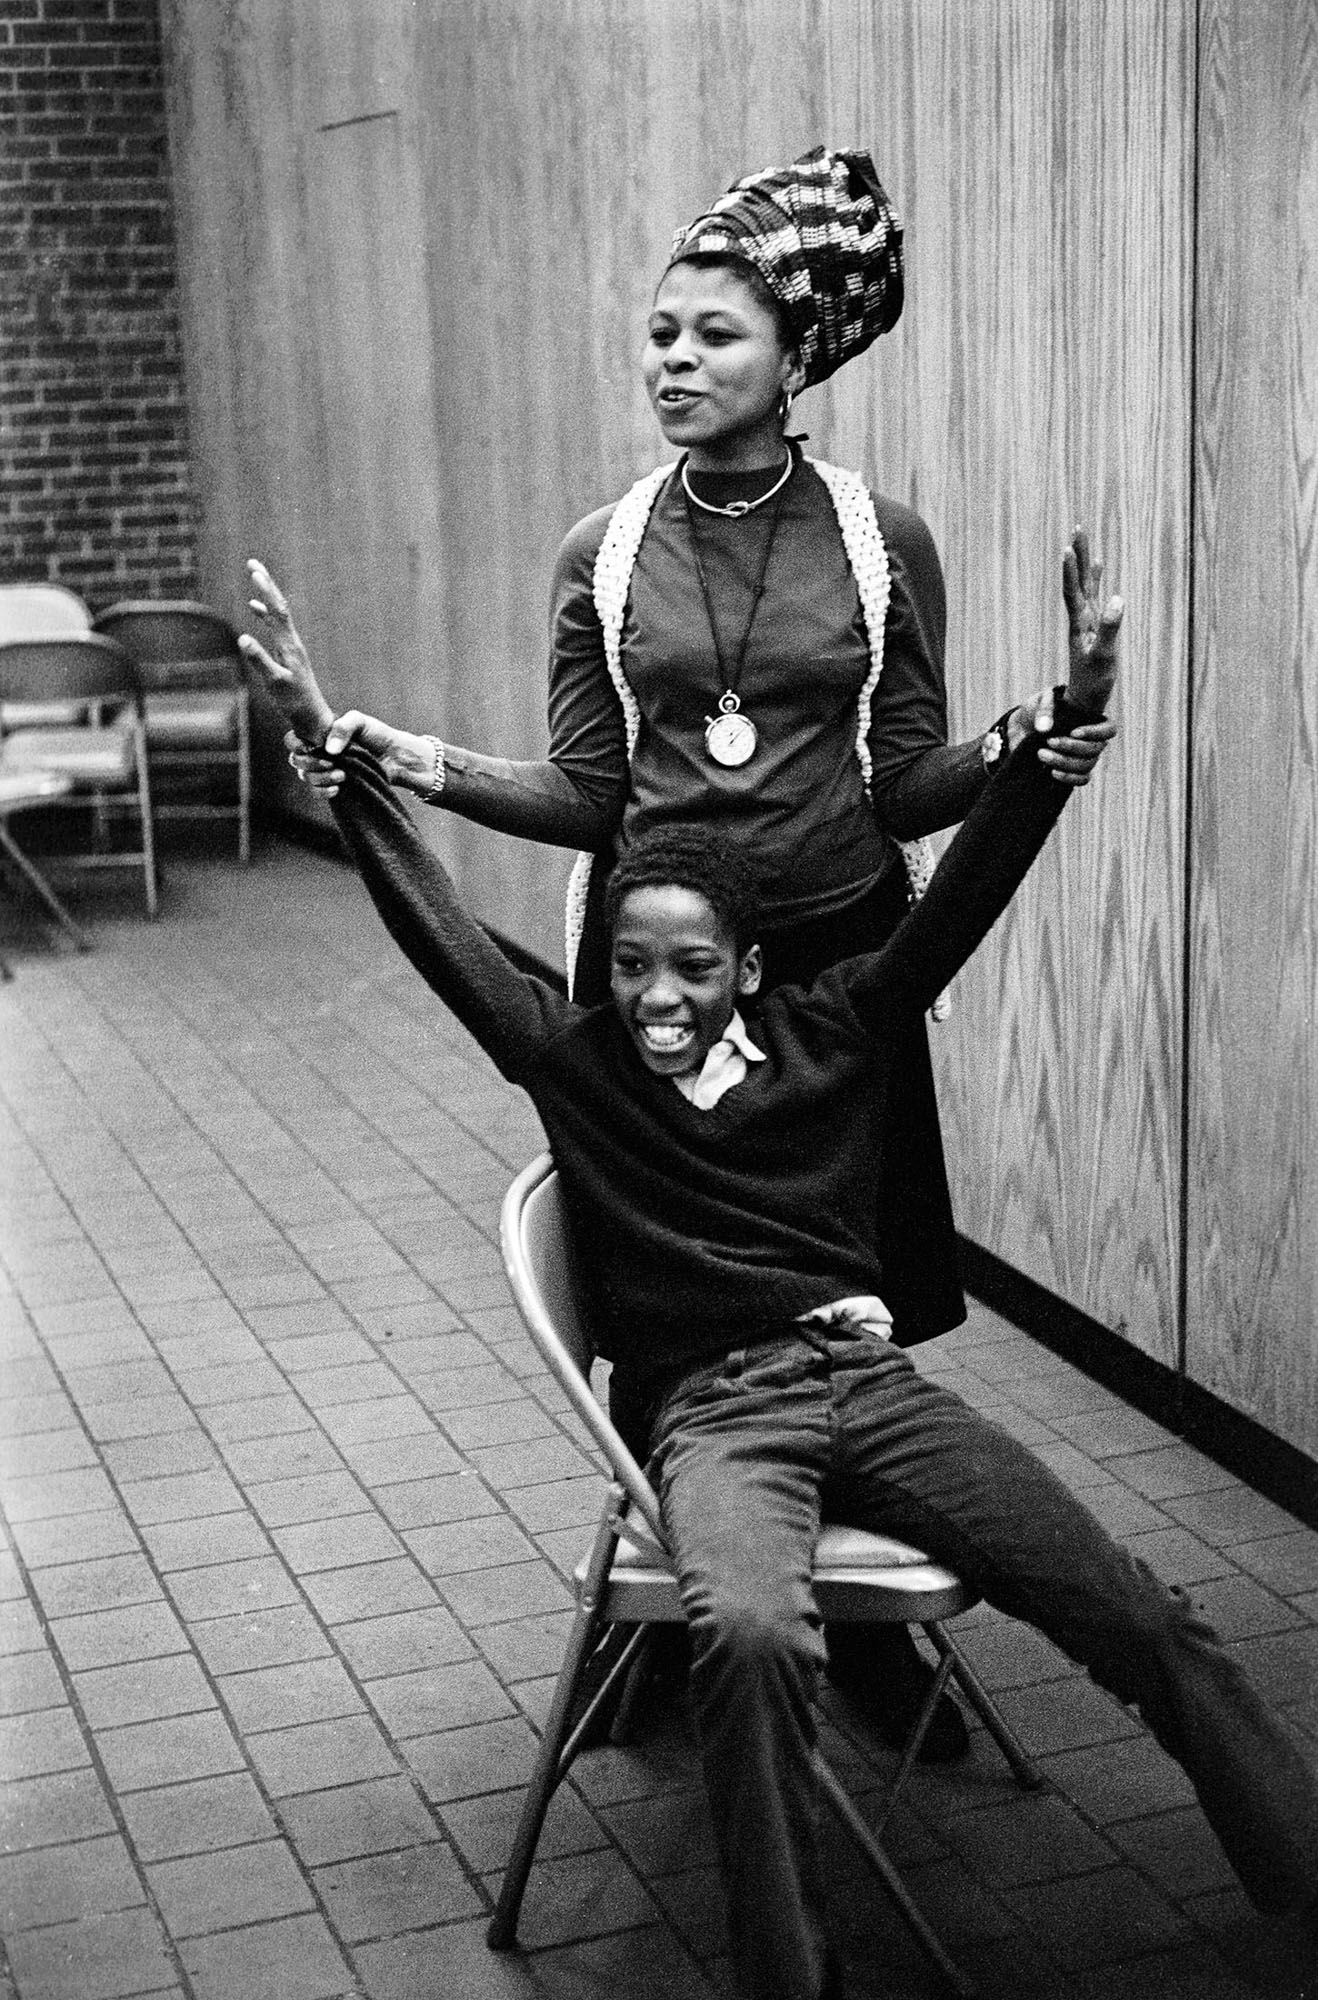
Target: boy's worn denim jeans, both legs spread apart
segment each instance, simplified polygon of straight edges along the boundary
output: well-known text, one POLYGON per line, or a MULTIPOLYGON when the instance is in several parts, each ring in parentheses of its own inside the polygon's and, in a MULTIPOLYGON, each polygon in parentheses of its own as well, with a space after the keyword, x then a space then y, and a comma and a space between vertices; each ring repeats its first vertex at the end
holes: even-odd
POLYGON ((1032 1452, 906 1354, 788 1326, 668 1386, 654 1474, 692 1632, 692 1696, 738 1974, 754 2000, 828 1978, 816 1848, 810 1592, 820 1518, 910 1540, 1038 1626, 1186 1768, 1264 1910, 1318 1896, 1314 1770, 1180 1592, 1032 1452))

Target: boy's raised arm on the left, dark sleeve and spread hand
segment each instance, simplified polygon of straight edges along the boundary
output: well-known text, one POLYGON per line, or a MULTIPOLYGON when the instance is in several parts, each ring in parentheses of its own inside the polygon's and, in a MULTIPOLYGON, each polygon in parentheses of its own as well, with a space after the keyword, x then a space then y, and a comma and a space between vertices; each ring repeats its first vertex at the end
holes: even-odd
MULTIPOLYGON (((258 592, 268 648, 238 640, 252 680, 306 742, 324 742, 334 714, 326 702, 288 602, 260 562, 248 572, 258 592)), ((348 842, 384 924, 428 986, 476 1036, 504 1076, 518 1072, 570 1012, 552 986, 516 970, 462 908, 438 856, 416 832, 378 760, 352 744, 334 820, 348 842)))

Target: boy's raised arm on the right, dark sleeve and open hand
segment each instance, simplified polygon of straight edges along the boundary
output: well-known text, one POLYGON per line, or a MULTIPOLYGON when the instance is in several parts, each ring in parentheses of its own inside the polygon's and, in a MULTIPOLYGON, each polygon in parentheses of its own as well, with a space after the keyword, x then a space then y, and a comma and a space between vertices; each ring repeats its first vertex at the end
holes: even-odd
POLYGON ((1100 602, 1100 582, 1102 564, 1092 560, 1088 536, 1076 528, 1062 558, 1068 672, 1052 728, 1036 728, 1002 764, 934 870, 924 900, 902 918, 888 944, 840 968, 858 1014, 894 998, 930 1006, 1012 900, 1076 790, 1052 784, 1038 752, 1050 736, 1066 736, 1076 724, 1102 716, 1112 696, 1124 604, 1120 598, 1100 602))

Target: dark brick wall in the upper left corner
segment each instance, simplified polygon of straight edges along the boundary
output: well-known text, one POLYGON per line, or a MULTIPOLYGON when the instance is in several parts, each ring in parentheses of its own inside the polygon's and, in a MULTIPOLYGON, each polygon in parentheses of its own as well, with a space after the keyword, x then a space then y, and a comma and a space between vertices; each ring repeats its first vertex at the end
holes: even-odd
POLYGON ((156 0, 4 0, 0 126, 0 578, 194 596, 156 0))

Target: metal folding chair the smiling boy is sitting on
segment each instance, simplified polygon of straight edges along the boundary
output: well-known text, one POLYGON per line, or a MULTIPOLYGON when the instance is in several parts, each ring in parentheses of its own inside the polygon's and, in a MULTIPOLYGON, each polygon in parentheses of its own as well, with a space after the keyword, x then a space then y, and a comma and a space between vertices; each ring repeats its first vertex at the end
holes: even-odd
MULTIPOLYGON (((516 1944, 518 1912, 554 1790, 566 1776, 578 1750, 590 1740, 598 1740, 598 1716, 616 1702, 618 1690, 646 1642, 648 1626, 684 1622, 654 1488, 590 1388, 594 1352, 582 1318, 580 1290, 572 1272, 572 1244, 562 1212, 558 1176, 548 1154, 532 1160, 508 1188, 500 1232, 508 1282, 530 1338, 564 1388, 596 1446, 608 1458, 612 1482, 604 1498, 604 1512, 590 1554, 576 1570, 576 1618, 540 1740, 536 1768, 522 1806, 508 1870, 494 1916, 490 1918, 488 1942, 492 1950, 508 1950, 516 1944), (602 1678, 598 1672, 592 1672, 600 1660, 608 1662, 602 1678), (590 1694, 582 1706, 586 1686, 590 1686, 590 1694)), ((860 1528, 824 1526, 814 1552, 814 1594, 824 1618, 870 1624, 918 1624, 938 1652, 938 1672, 902 1752, 878 1828, 866 1824, 822 1754, 818 1756, 818 1782, 824 1798, 852 1832, 860 1852, 946 1982, 958 1994, 972 1994, 972 1984, 948 1958, 930 1924, 906 1892, 880 1842, 880 1834, 906 1784, 938 1696, 948 1680, 958 1682, 966 1700, 980 1714, 1008 1758, 1016 1780, 1024 1788, 1042 1784, 1038 1768, 1030 1762, 944 1628, 946 1618, 968 1610, 976 1602, 974 1592, 950 1570, 930 1562, 918 1548, 910 1548, 906 1542, 896 1542, 882 1534, 866 1534, 860 1528)))

